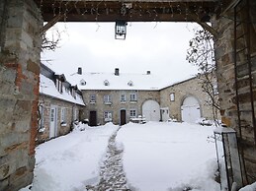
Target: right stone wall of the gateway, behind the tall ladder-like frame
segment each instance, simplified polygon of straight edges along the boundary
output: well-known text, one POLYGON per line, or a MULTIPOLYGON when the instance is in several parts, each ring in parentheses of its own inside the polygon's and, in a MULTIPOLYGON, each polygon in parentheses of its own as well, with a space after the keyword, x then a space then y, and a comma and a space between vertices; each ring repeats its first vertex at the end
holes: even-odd
MULTIPOLYGON (((250 20, 246 19, 242 25, 244 26, 242 30, 238 31, 238 35, 246 30, 247 22, 250 24, 250 49, 251 49, 251 69, 252 69, 252 91, 253 91, 253 102, 254 110, 256 110, 256 50, 255 50, 255 28, 253 24, 256 21, 256 9, 255 1, 250 0, 250 20), (254 7, 253 7, 253 6, 254 7)), ((243 16, 246 16, 247 12, 243 16)), ((239 16, 238 16, 239 17, 239 16)), ((240 20, 241 18, 239 18, 240 20)), ((244 184, 248 184, 256 181, 256 149, 255 149, 255 126, 253 125, 243 125, 241 128, 238 126, 238 112, 236 104, 236 84, 235 84, 235 68, 234 68, 234 13, 233 9, 226 12, 221 18, 213 18, 212 20, 213 28, 218 32, 215 36, 215 59, 217 66, 217 80, 218 80, 218 92, 220 101, 220 113, 221 120, 228 127, 232 127, 236 130, 238 136, 238 147, 241 163, 243 166, 243 180, 244 184)), ((255 27, 255 26, 254 26, 255 27)), ((246 38, 241 38, 237 41, 238 49, 241 45, 246 43, 246 38)), ((248 44, 246 44, 248 45, 248 44)), ((237 62, 241 63, 242 60, 247 59, 247 53, 240 52, 237 57, 237 62)), ((244 67, 239 70, 239 75, 244 71, 248 71, 248 67, 244 67)), ((239 105, 240 109, 251 110, 251 98, 248 89, 248 78, 244 78, 237 84, 239 89, 239 105), (247 79, 247 80, 246 80, 247 79), (243 84, 241 84, 243 83, 243 84)), ((246 114, 241 115, 242 124, 252 124, 251 120, 256 120, 252 117, 251 111, 246 114)))

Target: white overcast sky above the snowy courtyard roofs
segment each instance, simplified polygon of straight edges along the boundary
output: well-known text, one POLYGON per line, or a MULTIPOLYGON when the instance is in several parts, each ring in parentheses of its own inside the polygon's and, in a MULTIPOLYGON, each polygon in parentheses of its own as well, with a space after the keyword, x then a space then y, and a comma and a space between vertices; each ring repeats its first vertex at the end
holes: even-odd
MULTIPOLYGON (((161 75, 175 82, 193 76, 197 68, 186 60, 196 24, 128 23, 126 40, 115 39, 114 23, 59 23, 60 48, 45 51, 53 70, 69 75, 83 72, 114 72, 161 75)), ((52 31, 48 32, 51 35, 52 31)))

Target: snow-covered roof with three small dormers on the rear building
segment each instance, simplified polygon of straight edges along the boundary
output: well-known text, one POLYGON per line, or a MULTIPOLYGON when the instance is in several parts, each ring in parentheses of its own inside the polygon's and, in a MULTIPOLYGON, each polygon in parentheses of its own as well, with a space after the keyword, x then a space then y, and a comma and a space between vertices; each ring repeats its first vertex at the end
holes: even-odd
POLYGON ((120 73, 77 73, 67 77, 68 82, 77 84, 83 90, 140 90, 158 91, 163 86, 163 78, 152 74, 120 73))

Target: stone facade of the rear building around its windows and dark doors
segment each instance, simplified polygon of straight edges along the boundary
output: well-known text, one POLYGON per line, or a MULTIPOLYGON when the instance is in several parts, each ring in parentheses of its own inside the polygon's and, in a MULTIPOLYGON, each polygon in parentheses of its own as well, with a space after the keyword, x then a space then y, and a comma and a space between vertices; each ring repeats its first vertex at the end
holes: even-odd
POLYGON ((120 124, 121 109, 127 110, 127 122, 129 121, 129 109, 135 109, 137 115, 142 114, 142 104, 145 100, 152 99, 160 103, 160 96, 158 91, 83 91, 86 108, 84 110, 83 118, 89 119, 90 111, 97 111, 97 123, 105 124, 104 111, 113 112, 113 123, 120 124), (129 101, 129 94, 136 93, 137 101, 129 101), (125 94, 127 100, 121 102, 121 95, 125 94), (90 96, 96 95, 96 102, 90 103, 90 96), (105 104, 103 96, 110 95, 112 104, 105 104))

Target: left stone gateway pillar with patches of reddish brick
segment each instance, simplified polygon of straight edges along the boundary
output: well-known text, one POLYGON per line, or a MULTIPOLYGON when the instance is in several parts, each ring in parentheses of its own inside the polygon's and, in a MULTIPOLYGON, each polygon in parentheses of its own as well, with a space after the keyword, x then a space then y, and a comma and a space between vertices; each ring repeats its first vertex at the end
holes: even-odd
POLYGON ((32 183, 43 19, 33 0, 0 1, 0 190, 32 183))

